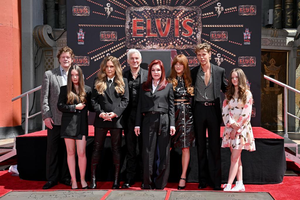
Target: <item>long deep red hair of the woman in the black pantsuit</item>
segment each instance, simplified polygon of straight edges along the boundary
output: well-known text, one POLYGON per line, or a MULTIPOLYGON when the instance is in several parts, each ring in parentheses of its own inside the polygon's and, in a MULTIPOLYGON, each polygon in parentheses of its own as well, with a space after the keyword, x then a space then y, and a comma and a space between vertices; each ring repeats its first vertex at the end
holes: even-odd
POLYGON ((162 89, 165 89, 168 82, 166 80, 166 73, 165 73, 165 68, 164 68, 164 64, 163 62, 161 62, 161 60, 153 60, 150 64, 149 64, 149 70, 148 70, 148 78, 146 80, 145 83, 143 83, 143 90, 145 91, 150 91, 149 88, 152 88, 152 80, 153 80, 153 77, 152 77, 152 74, 151 74, 151 69, 152 69, 152 66, 153 65, 159 65, 161 67, 161 79, 159 80, 159 83, 157 86, 158 87, 158 91, 162 90, 162 89))

